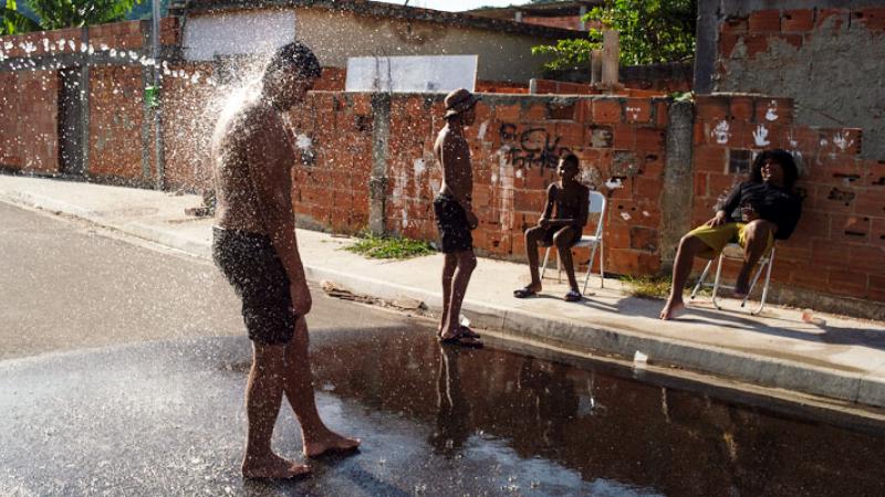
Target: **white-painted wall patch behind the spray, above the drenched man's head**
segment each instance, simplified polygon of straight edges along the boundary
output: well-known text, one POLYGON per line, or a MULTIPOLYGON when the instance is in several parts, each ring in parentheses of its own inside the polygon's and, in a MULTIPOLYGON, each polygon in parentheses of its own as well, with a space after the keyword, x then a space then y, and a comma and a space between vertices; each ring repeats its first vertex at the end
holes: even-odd
POLYGON ((211 61, 216 55, 270 53, 295 41, 295 12, 225 12, 188 18, 185 59, 211 61))

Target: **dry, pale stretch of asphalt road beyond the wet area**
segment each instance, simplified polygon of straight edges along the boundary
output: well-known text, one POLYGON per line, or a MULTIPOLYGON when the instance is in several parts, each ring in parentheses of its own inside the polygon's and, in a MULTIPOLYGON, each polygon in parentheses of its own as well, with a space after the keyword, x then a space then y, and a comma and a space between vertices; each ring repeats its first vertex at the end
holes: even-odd
MULTIPOLYGON (((312 330, 406 322, 313 290, 312 330)), ((239 306, 210 261, 0 202, 0 360, 150 340, 240 337, 239 306)))

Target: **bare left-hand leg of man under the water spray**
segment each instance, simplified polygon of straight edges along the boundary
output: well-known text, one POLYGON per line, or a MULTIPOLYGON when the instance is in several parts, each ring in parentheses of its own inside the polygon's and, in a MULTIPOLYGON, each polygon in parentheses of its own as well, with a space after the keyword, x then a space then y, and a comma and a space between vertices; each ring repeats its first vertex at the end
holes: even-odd
POLYGON ((271 436, 283 394, 285 346, 252 342, 252 369, 246 387, 249 427, 242 475, 249 478, 291 478, 310 472, 271 450, 271 436))

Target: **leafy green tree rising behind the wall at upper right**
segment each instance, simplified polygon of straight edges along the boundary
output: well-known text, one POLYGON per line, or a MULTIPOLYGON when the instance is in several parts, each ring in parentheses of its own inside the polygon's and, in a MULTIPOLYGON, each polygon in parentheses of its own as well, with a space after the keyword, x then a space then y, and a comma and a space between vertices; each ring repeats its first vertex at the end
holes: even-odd
MULTIPOLYGON (((696 19, 697 0, 606 0, 583 18, 621 33, 621 63, 625 65, 693 57, 696 19)), ((586 39, 534 46, 532 53, 554 55, 544 68, 555 71, 586 63, 590 51, 601 47, 602 31, 591 29, 586 39)))

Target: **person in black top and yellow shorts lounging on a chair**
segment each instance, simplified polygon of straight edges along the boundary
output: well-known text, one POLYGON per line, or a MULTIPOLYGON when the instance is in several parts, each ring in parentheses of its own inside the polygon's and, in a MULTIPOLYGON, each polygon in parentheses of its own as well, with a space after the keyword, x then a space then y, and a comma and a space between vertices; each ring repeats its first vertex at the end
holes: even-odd
POLYGON ((749 292, 749 278, 759 258, 774 240, 787 240, 793 233, 802 202, 793 193, 799 171, 785 150, 766 150, 753 161, 750 179, 720 202, 716 216, 683 236, 673 266, 673 287, 660 319, 671 319, 685 308, 683 289, 691 273, 695 257, 714 258, 728 243, 743 247, 743 265, 735 283, 735 296, 749 292), (740 221, 732 218, 740 210, 740 221))

